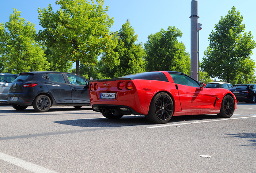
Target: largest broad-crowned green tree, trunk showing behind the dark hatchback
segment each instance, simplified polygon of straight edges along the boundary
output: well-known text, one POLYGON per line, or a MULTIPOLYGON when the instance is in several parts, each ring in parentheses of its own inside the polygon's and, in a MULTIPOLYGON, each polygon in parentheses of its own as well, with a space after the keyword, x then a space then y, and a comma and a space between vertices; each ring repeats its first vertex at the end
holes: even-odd
POLYGON ((44 28, 39 31, 39 38, 62 60, 76 62, 76 74, 80 73, 80 63, 94 63, 101 54, 110 67, 118 64, 118 54, 112 51, 117 37, 109 33, 114 18, 109 18, 103 2, 56 0, 60 10, 53 12, 51 4, 47 9, 38 9, 39 24, 44 28))

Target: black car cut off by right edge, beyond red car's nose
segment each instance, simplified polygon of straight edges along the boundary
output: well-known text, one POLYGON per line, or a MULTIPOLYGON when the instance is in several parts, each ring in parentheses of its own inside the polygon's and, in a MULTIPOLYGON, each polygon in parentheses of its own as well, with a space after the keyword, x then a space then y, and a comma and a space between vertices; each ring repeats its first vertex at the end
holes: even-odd
POLYGON ((229 91, 235 95, 237 101, 256 103, 256 84, 235 84, 229 91))

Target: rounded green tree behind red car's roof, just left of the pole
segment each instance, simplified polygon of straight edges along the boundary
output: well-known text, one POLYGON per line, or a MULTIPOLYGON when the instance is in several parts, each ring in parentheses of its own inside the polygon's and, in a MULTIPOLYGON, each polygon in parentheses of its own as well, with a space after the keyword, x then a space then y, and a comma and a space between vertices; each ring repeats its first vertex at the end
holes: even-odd
POLYGON ((169 26, 167 31, 148 36, 145 43, 147 71, 172 70, 190 74, 190 55, 183 42, 178 42, 182 32, 169 26))

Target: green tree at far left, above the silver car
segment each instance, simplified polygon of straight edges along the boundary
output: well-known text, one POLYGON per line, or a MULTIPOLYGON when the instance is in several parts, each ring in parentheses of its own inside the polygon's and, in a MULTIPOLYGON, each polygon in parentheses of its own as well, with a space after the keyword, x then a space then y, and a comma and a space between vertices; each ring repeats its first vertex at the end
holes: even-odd
POLYGON ((14 9, 9 22, 0 24, 0 56, 3 72, 44 71, 49 68, 39 42, 35 41, 35 25, 20 18, 14 9))

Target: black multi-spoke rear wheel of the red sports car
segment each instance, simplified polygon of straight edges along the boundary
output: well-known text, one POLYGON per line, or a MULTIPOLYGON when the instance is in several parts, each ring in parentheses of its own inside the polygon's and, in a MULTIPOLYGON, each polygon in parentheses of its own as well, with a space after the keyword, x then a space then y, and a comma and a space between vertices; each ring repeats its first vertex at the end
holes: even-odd
POLYGON ((173 100, 167 93, 158 93, 150 103, 148 121, 163 124, 170 121, 173 115, 173 100))

